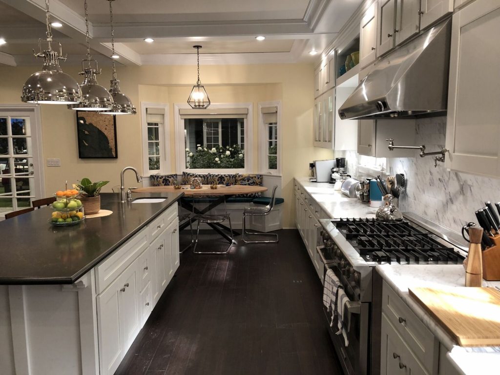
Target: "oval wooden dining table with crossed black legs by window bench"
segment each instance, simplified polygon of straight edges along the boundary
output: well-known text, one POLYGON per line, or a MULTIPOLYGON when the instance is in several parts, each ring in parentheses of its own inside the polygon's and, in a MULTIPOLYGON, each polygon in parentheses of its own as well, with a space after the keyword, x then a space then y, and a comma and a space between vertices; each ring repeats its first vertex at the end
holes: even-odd
MULTIPOLYGON (((180 199, 180 206, 187 209, 194 214, 204 214, 211 209, 215 208, 221 203, 224 203, 226 198, 231 195, 236 194, 251 194, 256 192, 264 192, 267 190, 267 187, 264 186, 255 186, 255 185, 217 185, 216 189, 212 189, 210 185, 201 185, 199 189, 191 189, 189 185, 181 185, 180 189, 175 189, 173 185, 170 186, 148 186, 148 187, 138 187, 132 190, 132 192, 172 192, 172 191, 182 191, 185 197, 196 198, 198 197, 211 197, 215 198, 209 202, 209 204, 202 208, 198 209, 192 204, 193 202, 188 199, 180 199)), ((194 216, 195 219, 196 216, 194 216)), ((191 221, 192 222, 192 221, 191 221)), ((227 234, 230 232, 230 228, 221 223, 207 223, 213 230, 219 233, 226 240, 231 241, 231 237, 227 234)), ((185 228, 189 225, 189 220, 185 220, 185 222, 179 223, 179 230, 185 228)), ((234 234, 240 234, 236 230, 232 230, 234 234)))

